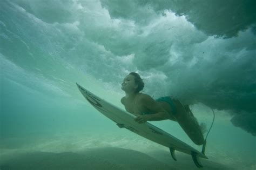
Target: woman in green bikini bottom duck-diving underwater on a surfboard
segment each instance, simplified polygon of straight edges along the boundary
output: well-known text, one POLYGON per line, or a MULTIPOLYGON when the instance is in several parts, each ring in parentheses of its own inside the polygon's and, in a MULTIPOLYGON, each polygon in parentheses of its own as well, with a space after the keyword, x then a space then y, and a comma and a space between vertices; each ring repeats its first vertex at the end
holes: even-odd
POLYGON ((149 95, 140 93, 143 87, 142 78, 135 72, 129 73, 122 83, 121 89, 125 91, 125 97, 121 99, 121 103, 127 112, 137 116, 134 121, 139 124, 166 119, 177 121, 195 144, 204 144, 201 128, 188 105, 183 105, 170 96, 154 100, 149 95))

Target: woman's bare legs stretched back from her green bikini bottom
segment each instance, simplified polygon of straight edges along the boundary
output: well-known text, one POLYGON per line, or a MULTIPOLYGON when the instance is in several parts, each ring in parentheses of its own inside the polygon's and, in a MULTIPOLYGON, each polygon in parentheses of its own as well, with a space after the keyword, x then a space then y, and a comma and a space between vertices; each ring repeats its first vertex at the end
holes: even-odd
POLYGON ((190 137, 190 139, 195 144, 203 145, 204 136, 201 132, 197 119, 193 116, 193 114, 186 111, 186 109, 179 100, 173 99, 173 103, 177 107, 177 113, 174 115, 174 117, 176 118, 181 128, 183 128, 188 137, 190 137))

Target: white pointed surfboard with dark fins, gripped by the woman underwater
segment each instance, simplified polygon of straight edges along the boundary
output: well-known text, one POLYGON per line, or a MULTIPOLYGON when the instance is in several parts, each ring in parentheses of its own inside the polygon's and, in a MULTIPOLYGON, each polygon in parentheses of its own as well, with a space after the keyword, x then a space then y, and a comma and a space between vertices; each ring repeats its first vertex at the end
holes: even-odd
POLYGON ((96 96, 90 91, 84 89, 84 87, 77 84, 78 89, 83 94, 85 99, 95 107, 100 113, 104 114, 107 118, 113 120, 120 128, 126 128, 134 133, 141 135, 144 138, 157 142, 160 145, 170 148, 172 158, 176 159, 174 151, 180 151, 183 153, 191 154, 194 163, 197 167, 203 167, 199 161, 200 158, 208 159, 203 153, 197 151, 193 147, 185 144, 185 142, 173 137, 171 134, 161 130, 160 128, 146 122, 144 124, 138 124, 134 121, 135 115, 126 112, 122 108, 116 107, 102 98, 96 96))

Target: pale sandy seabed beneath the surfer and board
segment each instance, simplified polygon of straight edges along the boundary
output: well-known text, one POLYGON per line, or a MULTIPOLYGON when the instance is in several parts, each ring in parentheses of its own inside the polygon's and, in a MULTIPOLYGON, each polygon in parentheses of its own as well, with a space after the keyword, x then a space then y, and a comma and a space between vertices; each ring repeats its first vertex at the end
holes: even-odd
MULTIPOLYGON (((137 135, 59 135, 25 141, 18 142, 18 147, 2 146, 1 170, 198 169, 190 155, 176 152, 174 161, 167 147, 137 135)), ((207 156, 208 160, 200 159, 201 169, 255 169, 255 164, 244 165, 223 154, 207 156)))

